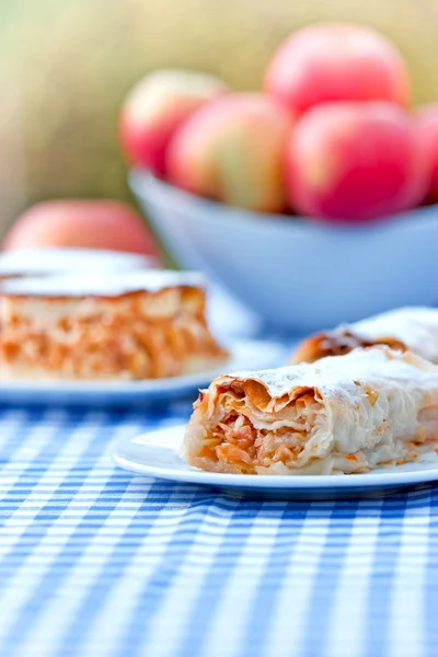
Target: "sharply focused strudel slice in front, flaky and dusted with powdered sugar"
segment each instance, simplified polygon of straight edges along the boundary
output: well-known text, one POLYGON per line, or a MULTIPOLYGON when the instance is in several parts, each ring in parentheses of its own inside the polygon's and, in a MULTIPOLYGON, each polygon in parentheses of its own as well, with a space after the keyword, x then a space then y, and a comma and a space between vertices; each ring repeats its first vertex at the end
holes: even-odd
POLYGON ((212 472, 336 474, 415 461, 438 447, 438 367, 388 347, 218 377, 184 454, 212 472))

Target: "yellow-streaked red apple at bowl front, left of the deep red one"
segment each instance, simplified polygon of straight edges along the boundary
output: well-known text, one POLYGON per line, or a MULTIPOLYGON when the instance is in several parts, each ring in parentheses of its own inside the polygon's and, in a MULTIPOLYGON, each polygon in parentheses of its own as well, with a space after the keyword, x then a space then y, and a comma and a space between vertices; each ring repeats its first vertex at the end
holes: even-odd
POLYGON ((262 93, 230 93, 197 110, 168 153, 169 180, 246 209, 286 207, 284 157, 292 120, 262 93))

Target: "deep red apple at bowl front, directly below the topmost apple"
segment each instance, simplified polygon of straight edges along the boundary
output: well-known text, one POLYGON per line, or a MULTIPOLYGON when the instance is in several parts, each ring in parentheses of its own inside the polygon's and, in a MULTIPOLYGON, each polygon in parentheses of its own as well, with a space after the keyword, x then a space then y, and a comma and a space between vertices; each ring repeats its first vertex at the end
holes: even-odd
POLYGON ((296 124, 287 185, 296 210, 365 221, 407 210, 427 191, 415 119, 392 103, 325 103, 296 124))

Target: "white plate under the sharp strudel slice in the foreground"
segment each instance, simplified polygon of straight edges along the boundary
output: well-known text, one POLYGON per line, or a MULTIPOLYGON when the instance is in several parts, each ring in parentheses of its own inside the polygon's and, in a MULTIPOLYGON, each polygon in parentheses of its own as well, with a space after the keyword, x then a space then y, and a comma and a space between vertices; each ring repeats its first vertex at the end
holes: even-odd
POLYGON ((185 426, 151 431, 118 441, 113 459, 117 465, 149 476, 220 488, 229 495, 280 499, 337 499, 377 497, 399 493, 405 486, 438 481, 438 457, 422 463, 381 469, 368 474, 269 476, 219 474, 188 465, 181 457, 185 426))

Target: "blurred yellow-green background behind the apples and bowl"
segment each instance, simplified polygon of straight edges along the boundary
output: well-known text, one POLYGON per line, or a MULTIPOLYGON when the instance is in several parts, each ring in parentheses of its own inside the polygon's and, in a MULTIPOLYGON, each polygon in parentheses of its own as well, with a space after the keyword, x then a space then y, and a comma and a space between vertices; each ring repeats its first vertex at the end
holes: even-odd
POLYGON ((414 103, 438 97, 438 0, 1 0, 0 237, 37 200, 131 203, 117 115, 146 72, 258 88, 281 39, 314 21, 380 30, 408 62, 414 103))

